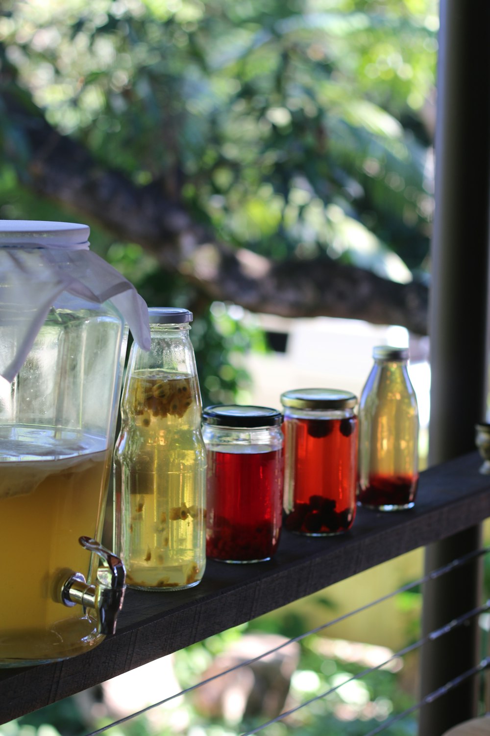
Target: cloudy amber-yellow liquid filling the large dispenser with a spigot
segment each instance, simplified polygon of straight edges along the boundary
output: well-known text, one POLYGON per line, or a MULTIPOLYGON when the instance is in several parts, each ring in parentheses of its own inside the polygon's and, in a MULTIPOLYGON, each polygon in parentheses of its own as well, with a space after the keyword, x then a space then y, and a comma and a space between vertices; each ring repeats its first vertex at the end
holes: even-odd
POLYGON ((4 666, 64 659, 103 638, 97 632, 95 612, 84 612, 82 606, 68 608, 54 595, 69 571, 88 576, 90 553, 78 540, 96 537, 110 456, 101 449, 105 442, 100 438, 71 431, 61 434, 62 454, 53 445, 60 432, 0 429, 2 454, 12 458, 0 462, 4 666))

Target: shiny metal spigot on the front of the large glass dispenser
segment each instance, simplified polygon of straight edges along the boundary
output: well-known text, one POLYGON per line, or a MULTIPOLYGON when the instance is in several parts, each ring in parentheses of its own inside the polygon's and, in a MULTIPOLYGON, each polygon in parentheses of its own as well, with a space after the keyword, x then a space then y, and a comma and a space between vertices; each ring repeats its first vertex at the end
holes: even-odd
POLYGON ((82 573, 72 573, 61 586, 61 602, 65 606, 80 604, 98 612, 101 634, 114 634, 118 613, 126 590, 126 570, 123 562, 96 539, 80 537, 79 542, 89 552, 98 554, 104 566, 97 570, 97 582, 88 584, 82 573))

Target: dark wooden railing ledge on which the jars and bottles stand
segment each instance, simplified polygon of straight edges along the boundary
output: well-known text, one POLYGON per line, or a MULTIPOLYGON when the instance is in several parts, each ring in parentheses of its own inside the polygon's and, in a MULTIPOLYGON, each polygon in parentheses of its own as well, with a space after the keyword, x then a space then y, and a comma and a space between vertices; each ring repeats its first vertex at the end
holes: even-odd
POLYGON ((271 562, 209 561, 203 581, 190 590, 128 590, 117 633, 92 651, 0 670, 0 723, 480 523, 490 516, 490 475, 478 473, 480 464, 478 453, 470 453, 426 470, 414 509, 359 509, 347 534, 311 538, 284 531, 271 562))

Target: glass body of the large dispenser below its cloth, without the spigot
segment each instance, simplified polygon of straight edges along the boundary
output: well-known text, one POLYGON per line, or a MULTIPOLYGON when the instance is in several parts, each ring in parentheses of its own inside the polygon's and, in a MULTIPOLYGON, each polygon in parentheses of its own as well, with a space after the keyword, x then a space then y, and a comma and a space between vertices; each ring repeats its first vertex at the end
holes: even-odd
MULTIPOLYGON (((99 643, 98 614, 60 600, 60 571, 93 580, 79 537, 101 538, 127 329, 110 302, 62 293, 18 375, 0 379, 0 665, 50 662, 99 643)), ((0 328, 4 363, 15 323, 0 328)))

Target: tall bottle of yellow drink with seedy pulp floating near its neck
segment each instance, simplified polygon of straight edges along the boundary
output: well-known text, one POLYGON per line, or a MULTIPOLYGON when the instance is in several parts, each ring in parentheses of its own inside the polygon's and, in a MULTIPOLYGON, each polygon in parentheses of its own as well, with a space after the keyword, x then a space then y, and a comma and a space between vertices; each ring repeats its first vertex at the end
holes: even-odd
POLYGON ((192 313, 151 308, 151 350, 133 345, 115 447, 115 546, 130 587, 197 585, 206 563, 206 452, 192 313))

